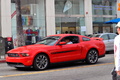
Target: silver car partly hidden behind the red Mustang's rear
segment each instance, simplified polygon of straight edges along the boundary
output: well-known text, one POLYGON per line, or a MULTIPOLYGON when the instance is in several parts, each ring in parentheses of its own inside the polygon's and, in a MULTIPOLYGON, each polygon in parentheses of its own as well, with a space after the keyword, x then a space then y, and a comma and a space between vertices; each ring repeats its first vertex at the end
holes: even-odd
POLYGON ((99 37, 103 38, 103 42, 106 47, 106 51, 112 51, 114 50, 114 38, 117 36, 115 33, 98 33, 98 34, 93 34, 92 38, 99 37))

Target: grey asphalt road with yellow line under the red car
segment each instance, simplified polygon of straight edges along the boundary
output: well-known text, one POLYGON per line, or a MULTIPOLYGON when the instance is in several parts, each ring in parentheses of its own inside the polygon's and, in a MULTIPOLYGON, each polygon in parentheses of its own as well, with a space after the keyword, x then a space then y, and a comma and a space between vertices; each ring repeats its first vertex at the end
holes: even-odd
POLYGON ((81 62, 55 64, 44 71, 17 70, 0 63, 0 80, 112 80, 113 62, 113 54, 106 54, 94 65, 81 62))

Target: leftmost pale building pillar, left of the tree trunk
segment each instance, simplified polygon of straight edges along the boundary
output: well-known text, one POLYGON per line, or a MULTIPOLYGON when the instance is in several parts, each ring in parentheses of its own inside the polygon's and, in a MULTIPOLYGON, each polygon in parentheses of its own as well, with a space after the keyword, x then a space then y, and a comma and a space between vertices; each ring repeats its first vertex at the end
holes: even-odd
POLYGON ((11 0, 1 0, 1 34, 11 37, 11 0))

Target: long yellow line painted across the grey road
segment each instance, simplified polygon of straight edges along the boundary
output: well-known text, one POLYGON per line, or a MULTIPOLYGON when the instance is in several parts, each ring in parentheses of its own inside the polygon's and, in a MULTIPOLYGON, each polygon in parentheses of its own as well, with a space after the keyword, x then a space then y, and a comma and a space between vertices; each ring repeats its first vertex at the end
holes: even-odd
POLYGON ((40 74, 40 73, 48 73, 48 72, 63 71, 63 70, 78 69, 78 68, 87 68, 87 67, 95 67, 95 66, 110 65, 110 64, 113 64, 113 63, 96 64, 96 65, 80 66, 80 67, 72 67, 72 68, 64 68, 64 69, 56 69, 56 70, 37 71, 37 72, 29 72, 29 73, 13 74, 13 75, 4 75, 4 76, 0 76, 0 78, 16 77, 16 76, 40 74))

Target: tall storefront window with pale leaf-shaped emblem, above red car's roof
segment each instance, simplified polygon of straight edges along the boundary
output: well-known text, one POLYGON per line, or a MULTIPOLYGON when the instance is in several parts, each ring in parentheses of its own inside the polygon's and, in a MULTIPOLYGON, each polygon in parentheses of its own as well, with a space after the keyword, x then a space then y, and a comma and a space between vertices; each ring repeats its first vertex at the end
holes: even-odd
POLYGON ((80 27, 84 25, 84 0, 55 0, 56 34, 72 31, 83 35, 80 27))

